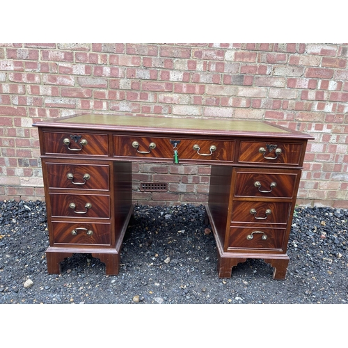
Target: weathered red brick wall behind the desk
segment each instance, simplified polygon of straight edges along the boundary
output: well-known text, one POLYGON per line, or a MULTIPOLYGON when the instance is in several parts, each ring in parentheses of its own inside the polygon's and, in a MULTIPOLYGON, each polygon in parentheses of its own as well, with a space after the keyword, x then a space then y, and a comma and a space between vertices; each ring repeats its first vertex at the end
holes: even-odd
MULTIPOLYGON (((33 121, 79 112, 308 132, 299 204, 348 207, 348 44, 0 44, 0 200, 44 199, 33 121)), ((209 166, 134 164, 138 203, 206 203, 209 166), (141 181, 168 192, 141 192, 141 181)))

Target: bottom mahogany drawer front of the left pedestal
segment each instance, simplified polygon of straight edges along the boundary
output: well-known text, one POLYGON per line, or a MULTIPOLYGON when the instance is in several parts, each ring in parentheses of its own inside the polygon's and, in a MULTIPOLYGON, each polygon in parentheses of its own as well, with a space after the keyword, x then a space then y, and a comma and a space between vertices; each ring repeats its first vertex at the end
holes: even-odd
POLYGON ((54 244, 111 245, 110 223, 52 222, 54 244))

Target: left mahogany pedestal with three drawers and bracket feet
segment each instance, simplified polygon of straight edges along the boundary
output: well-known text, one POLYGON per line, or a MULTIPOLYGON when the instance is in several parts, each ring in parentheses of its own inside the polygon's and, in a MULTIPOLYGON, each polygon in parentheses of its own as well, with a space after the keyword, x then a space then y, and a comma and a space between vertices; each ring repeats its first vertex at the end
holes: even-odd
POLYGON ((90 253, 117 275, 132 216, 132 163, 42 157, 49 248, 47 271, 61 273, 73 253, 90 253))

